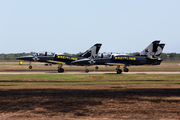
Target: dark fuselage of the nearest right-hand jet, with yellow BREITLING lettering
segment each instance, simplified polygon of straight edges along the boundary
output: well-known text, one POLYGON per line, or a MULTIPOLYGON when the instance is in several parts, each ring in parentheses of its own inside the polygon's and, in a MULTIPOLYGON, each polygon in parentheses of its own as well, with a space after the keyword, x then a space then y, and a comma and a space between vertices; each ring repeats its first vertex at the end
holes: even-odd
POLYGON ((145 56, 119 55, 112 58, 81 59, 73 61, 74 65, 159 65, 162 60, 145 56))

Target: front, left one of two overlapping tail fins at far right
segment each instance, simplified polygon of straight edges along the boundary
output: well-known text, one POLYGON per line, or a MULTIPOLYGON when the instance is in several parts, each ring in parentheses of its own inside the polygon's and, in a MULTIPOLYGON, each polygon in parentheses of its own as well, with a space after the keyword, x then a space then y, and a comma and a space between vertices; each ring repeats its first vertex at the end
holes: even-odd
POLYGON ((155 53, 158 51, 160 41, 153 41, 146 49, 144 49, 140 56, 147 56, 149 58, 152 58, 155 56, 155 53))

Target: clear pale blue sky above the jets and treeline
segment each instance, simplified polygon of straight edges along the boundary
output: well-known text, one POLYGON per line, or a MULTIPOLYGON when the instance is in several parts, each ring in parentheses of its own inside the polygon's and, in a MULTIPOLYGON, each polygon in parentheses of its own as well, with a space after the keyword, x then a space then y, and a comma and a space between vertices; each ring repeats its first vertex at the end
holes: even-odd
POLYGON ((180 53, 180 0, 0 0, 0 53, 180 53))

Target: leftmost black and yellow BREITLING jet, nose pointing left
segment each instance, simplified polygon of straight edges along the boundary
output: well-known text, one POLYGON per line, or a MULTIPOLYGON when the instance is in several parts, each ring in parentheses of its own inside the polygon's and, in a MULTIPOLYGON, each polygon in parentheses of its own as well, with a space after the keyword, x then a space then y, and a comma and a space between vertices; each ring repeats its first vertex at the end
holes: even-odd
POLYGON ((30 61, 29 69, 32 69, 31 61, 59 64, 58 72, 62 73, 62 72, 64 72, 64 69, 62 68, 63 63, 67 64, 67 65, 71 65, 72 61, 88 58, 90 56, 95 57, 97 55, 97 53, 99 52, 101 45, 102 44, 100 44, 100 43, 95 44, 94 46, 92 46, 90 49, 85 51, 80 56, 71 56, 71 55, 65 55, 65 54, 60 54, 60 53, 48 54, 47 52, 45 52, 45 53, 36 53, 33 55, 29 55, 29 56, 17 57, 16 59, 30 61))

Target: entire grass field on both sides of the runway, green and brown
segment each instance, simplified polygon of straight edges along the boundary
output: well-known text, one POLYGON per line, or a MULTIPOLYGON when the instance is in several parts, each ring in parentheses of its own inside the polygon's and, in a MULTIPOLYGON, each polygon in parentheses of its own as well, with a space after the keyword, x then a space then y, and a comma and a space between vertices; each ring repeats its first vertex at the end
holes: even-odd
MULTIPOLYGON (((130 71, 180 71, 179 63, 130 71)), ((91 71, 93 67, 89 67, 91 71)), ((64 66, 66 72, 84 67, 64 66)), ((57 66, 0 65, 0 72, 56 72, 57 66)), ((97 71, 115 71, 100 67, 97 71)), ((180 75, 0 75, 0 119, 180 119, 180 75)))

